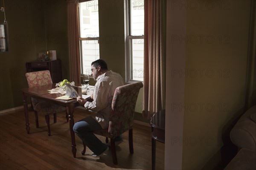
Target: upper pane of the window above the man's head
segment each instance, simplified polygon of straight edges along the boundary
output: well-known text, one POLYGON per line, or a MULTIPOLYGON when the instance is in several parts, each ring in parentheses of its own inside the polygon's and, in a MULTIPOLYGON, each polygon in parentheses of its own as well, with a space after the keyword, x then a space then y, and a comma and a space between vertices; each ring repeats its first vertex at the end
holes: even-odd
POLYGON ((79 6, 81 37, 99 37, 98 0, 79 3, 79 6))

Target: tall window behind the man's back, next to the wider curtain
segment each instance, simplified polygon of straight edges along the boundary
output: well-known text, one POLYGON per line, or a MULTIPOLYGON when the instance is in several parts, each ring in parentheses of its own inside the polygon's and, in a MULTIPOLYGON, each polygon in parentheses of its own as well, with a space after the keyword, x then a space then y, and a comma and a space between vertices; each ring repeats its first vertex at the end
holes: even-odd
POLYGON ((143 81, 144 0, 125 2, 126 82, 143 81))

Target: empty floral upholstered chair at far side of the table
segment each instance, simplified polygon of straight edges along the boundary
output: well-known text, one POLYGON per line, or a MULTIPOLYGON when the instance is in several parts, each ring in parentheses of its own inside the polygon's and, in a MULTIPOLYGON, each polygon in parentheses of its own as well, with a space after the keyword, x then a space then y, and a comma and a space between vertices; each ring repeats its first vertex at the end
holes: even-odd
MULTIPOLYGON (((49 70, 29 72, 29 73, 26 73, 25 75, 26 75, 26 79, 27 79, 29 88, 35 87, 35 86, 40 86, 40 85, 52 84, 52 78, 51 78, 49 70)), ((60 112, 60 111, 65 111, 66 108, 58 106, 58 105, 54 105, 54 104, 51 104, 48 102, 44 102, 41 99, 37 99, 37 98, 33 98, 33 97, 31 98, 31 102, 32 102, 32 108, 35 112, 36 127, 37 128, 39 127, 39 123, 38 123, 38 112, 39 112, 39 113, 42 113, 45 115, 45 120, 46 120, 47 127, 48 127, 48 136, 51 136, 49 114, 53 113, 54 123, 56 123, 56 121, 57 121, 56 113, 60 112)), ((66 112, 66 119, 68 122, 67 112, 66 112)))

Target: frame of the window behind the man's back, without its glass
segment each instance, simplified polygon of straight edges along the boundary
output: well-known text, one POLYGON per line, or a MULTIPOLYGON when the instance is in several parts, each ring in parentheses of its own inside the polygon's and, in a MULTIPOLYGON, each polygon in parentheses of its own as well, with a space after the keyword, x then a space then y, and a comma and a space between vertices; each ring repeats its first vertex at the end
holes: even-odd
MULTIPOLYGON (((133 69, 132 69, 132 40, 144 39, 143 35, 131 35, 131 0, 124 1, 125 9, 125 82, 143 82, 143 80, 135 80, 132 78, 133 69)), ((144 68, 143 68, 144 71, 144 68)), ((143 73, 144 74, 144 73, 143 73)))

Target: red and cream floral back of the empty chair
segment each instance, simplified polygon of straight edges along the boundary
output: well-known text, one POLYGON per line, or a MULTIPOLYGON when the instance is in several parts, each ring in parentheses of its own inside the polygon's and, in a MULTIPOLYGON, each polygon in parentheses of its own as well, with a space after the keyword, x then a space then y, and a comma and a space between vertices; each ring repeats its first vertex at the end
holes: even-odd
POLYGON ((52 84, 52 78, 49 70, 28 72, 25 75, 29 88, 52 84))

